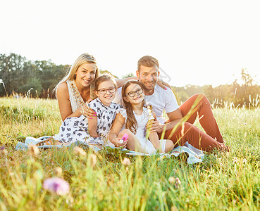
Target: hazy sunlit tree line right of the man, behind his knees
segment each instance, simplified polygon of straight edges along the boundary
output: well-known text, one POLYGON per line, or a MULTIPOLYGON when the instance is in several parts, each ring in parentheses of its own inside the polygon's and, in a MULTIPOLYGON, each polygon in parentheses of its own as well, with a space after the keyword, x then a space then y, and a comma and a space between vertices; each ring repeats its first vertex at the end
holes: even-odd
POLYGON ((254 82, 254 79, 247 70, 242 69, 242 84, 237 80, 232 84, 212 87, 204 85, 203 87, 186 85, 185 87, 173 87, 173 91, 178 98, 179 103, 186 101, 193 94, 203 93, 207 96, 211 104, 216 108, 230 106, 232 108, 256 108, 260 106, 260 86, 254 82))

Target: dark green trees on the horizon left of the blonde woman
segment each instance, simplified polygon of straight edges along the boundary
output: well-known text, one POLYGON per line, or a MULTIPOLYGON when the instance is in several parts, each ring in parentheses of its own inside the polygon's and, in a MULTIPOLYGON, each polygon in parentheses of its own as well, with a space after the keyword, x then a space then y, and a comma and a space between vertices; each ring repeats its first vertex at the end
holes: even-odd
POLYGON ((27 60, 11 53, 0 54, 0 96, 26 95, 41 98, 53 98, 52 90, 66 74, 68 65, 56 65, 51 60, 27 60), (5 88, 5 89, 4 89, 5 88))

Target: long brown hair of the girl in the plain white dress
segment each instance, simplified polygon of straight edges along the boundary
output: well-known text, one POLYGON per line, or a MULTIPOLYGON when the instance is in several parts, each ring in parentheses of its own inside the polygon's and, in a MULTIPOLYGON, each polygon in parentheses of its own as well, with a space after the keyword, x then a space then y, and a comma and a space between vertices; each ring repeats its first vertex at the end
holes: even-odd
MULTIPOLYGON (((137 132, 137 120, 135 119, 135 115, 134 115, 134 111, 132 110, 132 105, 131 103, 125 101, 125 95, 127 93, 125 93, 125 90, 130 86, 130 84, 138 84, 141 89, 144 91, 144 87, 142 84, 140 84, 140 82, 137 82, 135 80, 129 80, 128 82, 125 82, 125 84, 122 87, 122 98, 123 98, 123 103, 125 104, 125 110, 126 113, 128 115, 128 118, 125 122, 125 128, 126 129, 130 129, 130 131, 133 134, 136 134, 137 132)), ((144 106, 144 101, 142 101, 142 106, 144 106)))

